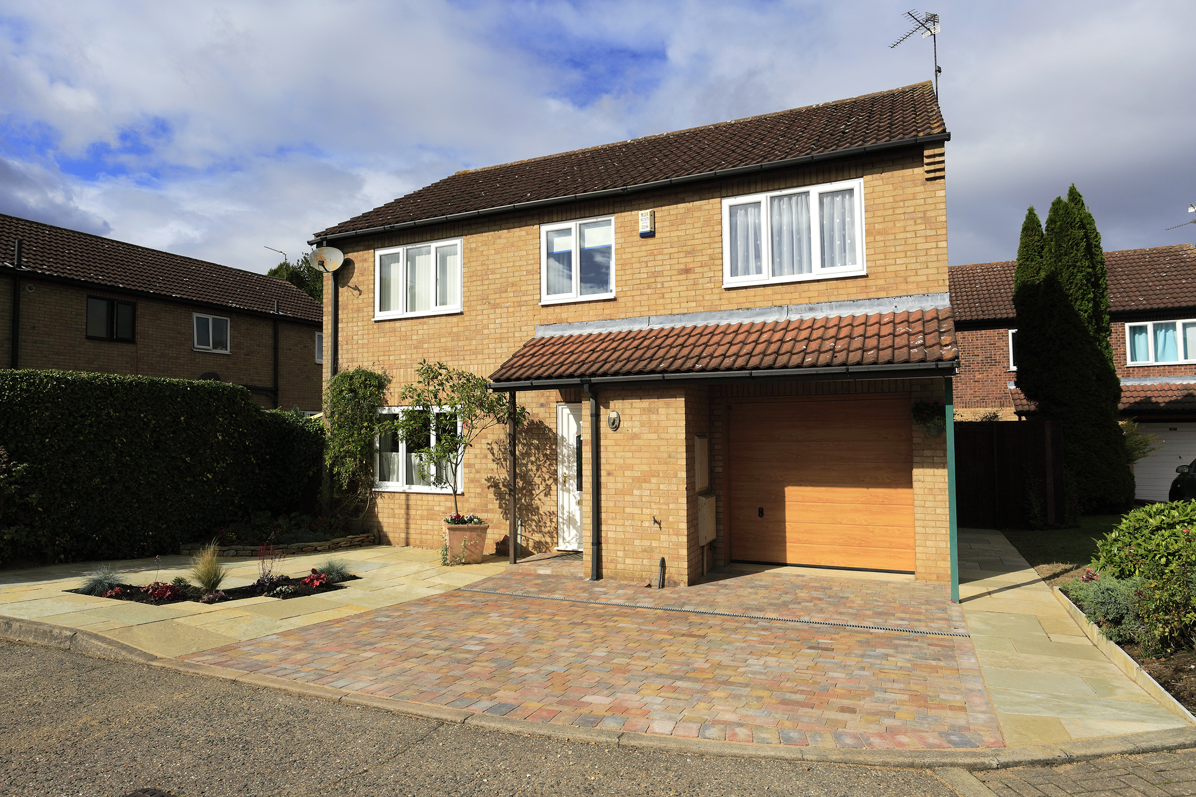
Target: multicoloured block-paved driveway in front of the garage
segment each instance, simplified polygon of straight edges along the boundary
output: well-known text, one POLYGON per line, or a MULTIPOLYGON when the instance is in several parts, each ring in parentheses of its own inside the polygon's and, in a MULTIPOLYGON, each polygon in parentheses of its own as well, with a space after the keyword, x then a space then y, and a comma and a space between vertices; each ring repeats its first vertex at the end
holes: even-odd
POLYGON ((1001 747, 971 640, 948 636, 964 627, 942 587, 825 571, 665 590, 507 572, 181 658, 543 723, 748 743, 1001 747), (776 619, 695 613, 712 609, 776 619))

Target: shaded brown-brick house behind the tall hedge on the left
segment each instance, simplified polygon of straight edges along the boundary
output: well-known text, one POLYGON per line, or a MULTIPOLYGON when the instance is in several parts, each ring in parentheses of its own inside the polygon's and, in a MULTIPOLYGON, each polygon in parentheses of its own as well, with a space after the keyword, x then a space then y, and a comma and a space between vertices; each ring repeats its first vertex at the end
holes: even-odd
POLYGON ((291 283, 2 214, 0 247, 0 366, 218 379, 319 410, 322 308, 291 283))

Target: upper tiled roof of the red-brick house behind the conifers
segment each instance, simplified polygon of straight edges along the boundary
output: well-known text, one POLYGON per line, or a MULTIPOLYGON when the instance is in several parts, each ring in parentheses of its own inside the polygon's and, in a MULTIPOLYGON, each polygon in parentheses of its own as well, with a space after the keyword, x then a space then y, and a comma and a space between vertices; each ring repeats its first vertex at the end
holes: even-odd
MULTIPOLYGON (((964 321, 1012 319, 1015 260, 947 269, 951 307, 964 321)), ((1196 246, 1177 244, 1105 252, 1109 311, 1196 307, 1196 246)))

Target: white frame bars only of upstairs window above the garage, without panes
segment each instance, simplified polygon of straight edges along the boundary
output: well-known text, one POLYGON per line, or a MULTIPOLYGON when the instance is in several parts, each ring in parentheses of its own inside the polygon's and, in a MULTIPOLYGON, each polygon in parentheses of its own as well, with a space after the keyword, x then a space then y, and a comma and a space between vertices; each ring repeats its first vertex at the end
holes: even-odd
POLYGON ((740 288, 743 286, 781 284, 786 282, 807 282, 810 280, 829 280, 836 277, 866 276, 868 272, 865 252, 867 250, 864 239, 864 179, 840 180, 837 183, 822 183, 818 185, 803 185, 800 188, 787 188, 779 191, 767 191, 764 194, 748 194, 744 196, 732 196, 722 200, 722 287, 740 288), (856 265, 836 269, 822 268, 822 235, 819 234, 820 211, 818 195, 830 191, 843 191, 855 189, 855 240, 856 240, 856 265), (787 196, 793 194, 810 194, 810 259, 813 262, 813 270, 810 274, 786 274, 771 276, 773 269, 773 237, 769 219, 770 202, 775 196, 787 196), (763 272, 743 277, 731 276, 731 233, 730 213, 731 207, 737 204, 749 204, 759 202, 761 204, 761 258, 763 260, 763 272))

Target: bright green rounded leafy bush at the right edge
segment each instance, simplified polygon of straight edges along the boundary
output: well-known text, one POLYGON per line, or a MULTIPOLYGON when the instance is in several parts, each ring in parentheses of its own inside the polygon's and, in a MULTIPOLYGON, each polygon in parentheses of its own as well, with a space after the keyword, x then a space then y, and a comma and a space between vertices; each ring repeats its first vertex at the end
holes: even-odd
POLYGON ((1148 562, 1166 564, 1190 551, 1196 501, 1147 504, 1125 514, 1121 525, 1097 540, 1093 564, 1116 578, 1143 575, 1148 562))

